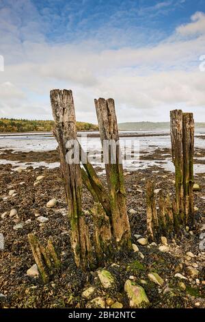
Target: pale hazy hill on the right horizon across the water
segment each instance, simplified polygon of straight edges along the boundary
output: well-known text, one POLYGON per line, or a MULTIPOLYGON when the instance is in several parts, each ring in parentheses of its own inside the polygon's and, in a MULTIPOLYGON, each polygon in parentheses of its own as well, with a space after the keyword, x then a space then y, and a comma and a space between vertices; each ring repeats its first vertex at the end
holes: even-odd
MULTIPOLYGON (((196 128, 204 128, 205 123, 195 123, 196 128)), ((118 123, 118 129, 121 131, 133 130, 157 130, 157 129, 169 129, 169 122, 127 122, 118 123)))

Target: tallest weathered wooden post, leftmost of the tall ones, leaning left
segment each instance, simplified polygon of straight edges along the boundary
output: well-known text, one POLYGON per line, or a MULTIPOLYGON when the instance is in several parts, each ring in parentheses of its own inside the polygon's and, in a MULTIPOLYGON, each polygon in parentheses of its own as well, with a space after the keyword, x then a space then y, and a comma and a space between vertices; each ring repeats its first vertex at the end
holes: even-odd
POLYGON ((77 267, 85 268, 87 264, 92 264, 92 245, 81 209, 81 167, 79 162, 66 160, 66 154, 70 153, 70 148, 79 147, 72 91, 51 90, 50 96, 55 122, 53 133, 59 145, 61 172, 68 201, 71 245, 77 267))

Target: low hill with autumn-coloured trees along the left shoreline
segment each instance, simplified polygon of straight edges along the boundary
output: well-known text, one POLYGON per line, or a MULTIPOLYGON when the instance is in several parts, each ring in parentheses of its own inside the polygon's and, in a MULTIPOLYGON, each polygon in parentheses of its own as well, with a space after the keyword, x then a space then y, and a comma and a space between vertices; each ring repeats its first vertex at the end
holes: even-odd
MULTIPOLYGON (((51 132, 53 121, 37 121, 25 119, 0 119, 0 132, 51 132)), ((78 131, 90 131, 98 129, 92 123, 77 122, 78 131)))

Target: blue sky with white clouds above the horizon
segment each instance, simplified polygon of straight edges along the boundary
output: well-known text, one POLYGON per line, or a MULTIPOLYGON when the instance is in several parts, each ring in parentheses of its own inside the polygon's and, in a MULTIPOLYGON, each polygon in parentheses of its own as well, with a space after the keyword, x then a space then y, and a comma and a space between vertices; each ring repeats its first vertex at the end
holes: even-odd
POLYGON ((111 97, 120 123, 205 122, 205 1, 0 0, 0 117, 52 119, 53 88, 78 121, 111 97))

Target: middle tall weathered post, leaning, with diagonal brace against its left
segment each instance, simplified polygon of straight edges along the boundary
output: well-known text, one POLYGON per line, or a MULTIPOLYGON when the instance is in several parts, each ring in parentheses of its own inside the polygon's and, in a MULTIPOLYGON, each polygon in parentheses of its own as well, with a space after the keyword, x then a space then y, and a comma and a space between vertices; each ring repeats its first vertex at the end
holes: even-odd
POLYGON ((126 212, 126 191, 120 160, 118 124, 113 99, 95 99, 96 113, 104 156, 107 155, 105 170, 111 205, 111 221, 115 242, 118 247, 130 245, 131 230, 126 212), (106 144, 107 143, 107 144, 106 144), (106 150, 106 151, 105 151, 106 150))

